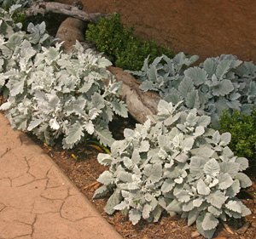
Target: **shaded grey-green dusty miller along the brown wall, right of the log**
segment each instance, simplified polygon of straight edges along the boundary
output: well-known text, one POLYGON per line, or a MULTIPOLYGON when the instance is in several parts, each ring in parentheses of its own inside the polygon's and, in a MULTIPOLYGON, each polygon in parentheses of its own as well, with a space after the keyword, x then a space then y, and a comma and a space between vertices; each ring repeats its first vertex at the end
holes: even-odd
POLYGON ((172 60, 166 55, 158 57, 151 65, 145 60, 142 71, 128 71, 139 77, 143 91, 154 90, 167 102, 183 107, 196 108, 212 117, 218 128, 218 120, 227 109, 250 114, 256 104, 256 66, 252 62, 237 60, 233 55, 208 58, 201 67, 188 67, 196 56, 177 54, 172 60), (184 67, 185 66, 185 67, 184 67))

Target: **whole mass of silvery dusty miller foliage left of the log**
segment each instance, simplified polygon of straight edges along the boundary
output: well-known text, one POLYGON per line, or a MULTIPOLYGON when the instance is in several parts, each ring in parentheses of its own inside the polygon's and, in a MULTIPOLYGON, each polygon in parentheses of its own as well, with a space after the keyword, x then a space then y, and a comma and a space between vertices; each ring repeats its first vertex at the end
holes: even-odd
POLYGON ((106 69, 111 62, 102 54, 84 52, 79 43, 72 54, 64 54, 61 44, 50 46, 44 23, 29 24, 26 34, 2 13, 0 88, 9 90, 9 98, 0 109, 12 127, 32 132, 47 144, 63 135, 64 148, 88 136, 110 146, 108 122, 113 113, 127 117, 125 103, 118 98, 121 83, 106 69))

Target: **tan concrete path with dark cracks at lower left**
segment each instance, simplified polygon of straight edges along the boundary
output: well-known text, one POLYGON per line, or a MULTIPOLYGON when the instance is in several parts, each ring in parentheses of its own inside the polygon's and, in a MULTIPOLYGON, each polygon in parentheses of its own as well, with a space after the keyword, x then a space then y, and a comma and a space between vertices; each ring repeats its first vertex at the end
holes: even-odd
POLYGON ((26 134, 0 113, 0 239, 120 239, 26 134))

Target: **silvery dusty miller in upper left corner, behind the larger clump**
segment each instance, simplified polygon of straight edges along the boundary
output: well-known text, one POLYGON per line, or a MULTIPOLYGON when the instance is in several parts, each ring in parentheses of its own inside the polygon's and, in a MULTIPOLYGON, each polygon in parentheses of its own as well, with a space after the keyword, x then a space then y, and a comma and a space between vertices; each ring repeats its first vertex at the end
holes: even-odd
POLYGON ((42 46, 48 48, 54 43, 45 29, 45 23, 34 26, 30 23, 27 32, 21 31, 22 25, 15 24, 12 14, 20 5, 13 5, 9 13, 0 9, 0 92, 3 91, 8 77, 3 72, 10 70, 20 71, 23 65, 32 65, 35 54, 41 51, 42 46), (27 47, 27 49, 26 49, 27 47))

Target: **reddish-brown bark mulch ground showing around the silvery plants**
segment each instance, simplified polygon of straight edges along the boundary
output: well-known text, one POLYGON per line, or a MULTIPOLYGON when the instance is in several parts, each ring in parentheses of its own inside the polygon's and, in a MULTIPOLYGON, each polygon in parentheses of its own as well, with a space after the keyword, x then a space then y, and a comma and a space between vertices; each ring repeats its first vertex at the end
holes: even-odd
MULTIPOLYGON (((55 24, 50 25, 51 27, 55 24)), ((50 30, 49 30, 50 31, 50 30)), ((110 124, 110 130, 113 132, 114 139, 122 139, 124 128, 135 128, 135 122, 131 117, 127 119, 115 117, 110 124)), ((102 167, 96 160, 99 151, 90 148, 88 145, 77 145, 72 150, 63 150, 61 142, 57 142, 54 147, 50 147, 38 141, 35 136, 32 136, 38 145, 53 158, 53 160, 62 168, 67 176, 79 187, 79 190, 87 196, 95 207, 102 213, 102 216, 108 219, 108 222, 119 231, 119 233, 127 238, 203 238, 196 231, 195 225, 187 226, 185 219, 180 219, 179 216, 170 217, 167 213, 163 213, 159 222, 148 223, 141 220, 137 225, 131 225, 128 217, 122 213, 114 213, 109 216, 104 212, 103 208, 106 205, 108 196, 93 200, 92 196, 100 184, 96 181, 100 174, 108 168, 102 167)), ((225 238, 254 238, 256 236, 256 177, 255 162, 250 162, 250 168, 246 174, 252 179, 253 185, 247 190, 241 190, 238 197, 241 201, 250 208, 252 213, 242 219, 228 219, 218 225, 218 230, 214 236, 225 238)))

